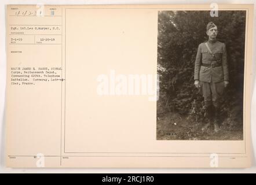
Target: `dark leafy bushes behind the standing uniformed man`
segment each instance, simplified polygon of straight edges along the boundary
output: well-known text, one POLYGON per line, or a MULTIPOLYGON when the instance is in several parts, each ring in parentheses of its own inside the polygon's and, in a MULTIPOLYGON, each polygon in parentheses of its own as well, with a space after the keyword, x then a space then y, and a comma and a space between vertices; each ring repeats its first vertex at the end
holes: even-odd
MULTIPOLYGON (((229 87, 226 88, 222 114, 239 119, 243 113, 245 11, 219 11, 211 17, 209 11, 162 11, 158 14, 158 74, 162 110, 202 115, 203 98, 194 86, 193 73, 196 51, 208 40, 206 25, 213 21, 218 27, 220 42, 226 44, 229 66, 229 87)), ((202 116, 201 116, 202 117, 202 116)))

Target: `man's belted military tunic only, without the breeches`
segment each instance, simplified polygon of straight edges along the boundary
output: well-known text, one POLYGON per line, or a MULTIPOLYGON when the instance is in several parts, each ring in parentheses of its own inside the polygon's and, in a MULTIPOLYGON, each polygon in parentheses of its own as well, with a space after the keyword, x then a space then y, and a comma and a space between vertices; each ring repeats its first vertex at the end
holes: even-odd
POLYGON ((226 46, 222 42, 207 42, 210 50, 214 54, 214 57, 207 49, 205 42, 200 43, 198 47, 198 53, 196 54, 195 62, 195 80, 202 82, 222 82, 228 81, 228 62, 226 58, 226 46), (202 62, 206 64, 213 64, 214 62, 220 62, 220 66, 202 66, 202 62))

